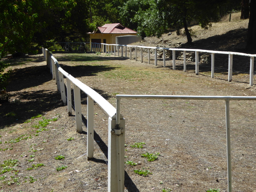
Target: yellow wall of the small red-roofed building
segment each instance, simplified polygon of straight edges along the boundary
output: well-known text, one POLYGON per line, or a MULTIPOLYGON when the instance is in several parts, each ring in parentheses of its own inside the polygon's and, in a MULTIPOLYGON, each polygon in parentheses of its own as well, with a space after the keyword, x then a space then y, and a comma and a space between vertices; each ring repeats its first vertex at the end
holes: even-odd
MULTIPOLYGON (((116 33, 116 34, 104 34, 104 33, 95 33, 90 34, 90 45, 92 45, 92 39, 101 39, 101 43, 103 43, 103 39, 106 39, 106 44, 116 44, 116 37, 117 36, 124 36, 124 35, 137 35, 137 33, 116 33)), ((100 52, 102 52, 100 48, 100 52)))

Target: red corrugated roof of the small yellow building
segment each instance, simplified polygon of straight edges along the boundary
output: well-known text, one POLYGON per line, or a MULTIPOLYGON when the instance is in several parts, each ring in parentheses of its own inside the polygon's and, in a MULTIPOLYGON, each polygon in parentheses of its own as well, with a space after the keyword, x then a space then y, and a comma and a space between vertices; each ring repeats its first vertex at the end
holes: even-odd
POLYGON ((137 31, 124 27, 121 23, 105 24, 102 27, 98 27, 94 33, 97 31, 100 33, 137 33, 137 31))

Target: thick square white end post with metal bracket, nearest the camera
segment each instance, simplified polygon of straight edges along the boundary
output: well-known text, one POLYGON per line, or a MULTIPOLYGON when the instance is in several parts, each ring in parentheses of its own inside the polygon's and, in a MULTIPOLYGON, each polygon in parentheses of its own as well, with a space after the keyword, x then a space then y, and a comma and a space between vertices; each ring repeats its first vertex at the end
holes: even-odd
MULTIPOLYGON (((120 119, 120 128, 124 131, 125 122, 124 119, 120 119)), ((115 134, 116 119, 108 118, 108 192, 120 192, 118 186, 121 188, 121 192, 124 192, 124 133, 119 136, 115 134), (119 137, 119 138, 117 138, 119 137), (121 170, 117 168, 117 139, 120 139, 119 154, 121 158, 121 170), (121 179, 118 180, 118 171, 121 172, 121 179), (120 186, 121 185, 121 186, 120 186)))

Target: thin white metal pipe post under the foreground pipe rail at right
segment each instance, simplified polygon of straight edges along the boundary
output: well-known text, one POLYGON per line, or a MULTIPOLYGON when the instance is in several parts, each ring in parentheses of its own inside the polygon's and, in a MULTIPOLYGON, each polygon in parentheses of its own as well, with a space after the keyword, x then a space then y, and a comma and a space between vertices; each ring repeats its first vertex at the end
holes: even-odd
POLYGON ((226 100, 226 134, 227 134, 227 164, 228 164, 228 192, 232 191, 232 170, 231 170, 231 144, 230 144, 230 114, 229 102, 226 100))

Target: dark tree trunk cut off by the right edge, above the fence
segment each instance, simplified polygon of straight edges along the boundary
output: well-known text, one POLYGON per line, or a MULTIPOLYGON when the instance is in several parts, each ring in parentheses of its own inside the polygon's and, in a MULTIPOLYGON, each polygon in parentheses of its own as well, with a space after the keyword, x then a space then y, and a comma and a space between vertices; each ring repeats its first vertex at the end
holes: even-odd
POLYGON ((251 51, 256 49, 256 1, 250 2, 250 17, 248 24, 248 34, 246 40, 246 49, 251 51))

